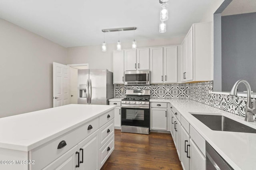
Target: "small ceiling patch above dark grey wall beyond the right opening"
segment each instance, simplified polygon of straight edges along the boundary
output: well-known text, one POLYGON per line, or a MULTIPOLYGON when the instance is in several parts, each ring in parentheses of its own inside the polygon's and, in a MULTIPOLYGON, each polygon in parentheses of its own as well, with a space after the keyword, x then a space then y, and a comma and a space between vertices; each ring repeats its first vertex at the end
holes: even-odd
POLYGON ((256 12, 256 0, 232 0, 221 16, 256 12))

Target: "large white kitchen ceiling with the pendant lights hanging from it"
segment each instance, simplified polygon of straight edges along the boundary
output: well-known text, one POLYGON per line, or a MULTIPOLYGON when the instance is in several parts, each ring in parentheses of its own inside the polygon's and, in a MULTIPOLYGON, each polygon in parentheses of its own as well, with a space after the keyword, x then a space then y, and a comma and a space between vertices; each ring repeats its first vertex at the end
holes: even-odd
MULTIPOLYGON (((166 33, 159 33, 159 0, 0 0, 0 18, 64 47, 99 45, 102 29, 138 27, 137 41, 184 36, 214 0, 170 0, 166 33)), ((132 41, 133 31, 120 31, 132 41)), ((118 41, 118 32, 105 33, 118 41)))

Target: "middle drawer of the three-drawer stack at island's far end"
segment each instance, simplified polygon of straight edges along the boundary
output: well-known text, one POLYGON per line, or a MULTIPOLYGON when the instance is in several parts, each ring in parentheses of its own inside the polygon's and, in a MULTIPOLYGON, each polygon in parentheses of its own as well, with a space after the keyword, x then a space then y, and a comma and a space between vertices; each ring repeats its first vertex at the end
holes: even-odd
POLYGON ((100 127, 100 147, 114 134, 114 119, 100 127))

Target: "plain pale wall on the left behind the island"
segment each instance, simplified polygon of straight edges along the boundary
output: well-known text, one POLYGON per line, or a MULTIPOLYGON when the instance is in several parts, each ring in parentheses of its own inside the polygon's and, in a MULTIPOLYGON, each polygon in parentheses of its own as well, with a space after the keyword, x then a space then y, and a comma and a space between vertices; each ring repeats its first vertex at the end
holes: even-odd
POLYGON ((0 19, 0 117, 52 107, 52 62, 66 59, 66 48, 0 19))

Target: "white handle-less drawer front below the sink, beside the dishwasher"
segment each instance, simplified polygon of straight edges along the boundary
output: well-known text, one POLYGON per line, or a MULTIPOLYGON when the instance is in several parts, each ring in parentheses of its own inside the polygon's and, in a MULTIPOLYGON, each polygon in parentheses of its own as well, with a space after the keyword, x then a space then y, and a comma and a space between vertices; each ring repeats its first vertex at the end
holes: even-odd
POLYGON ((190 125, 190 138, 194 141, 198 149, 205 154, 205 139, 190 125))

